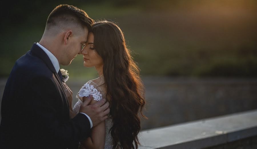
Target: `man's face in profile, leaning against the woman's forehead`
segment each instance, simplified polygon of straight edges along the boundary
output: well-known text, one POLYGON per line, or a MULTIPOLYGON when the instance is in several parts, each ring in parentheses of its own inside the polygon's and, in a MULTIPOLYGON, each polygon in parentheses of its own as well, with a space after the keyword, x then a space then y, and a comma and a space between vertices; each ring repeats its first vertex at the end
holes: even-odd
POLYGON ((71 61, 81 52, 82 46, 85 45, 87 42, 87 36, 88 36, 88 29, 84 28, 82 32, 79 32, 76 34, 73 34, 69 38, 69 44, 67 45, 67 48, 64 50, 65 54, 64 61, 62 65, 69 65, 71 61))

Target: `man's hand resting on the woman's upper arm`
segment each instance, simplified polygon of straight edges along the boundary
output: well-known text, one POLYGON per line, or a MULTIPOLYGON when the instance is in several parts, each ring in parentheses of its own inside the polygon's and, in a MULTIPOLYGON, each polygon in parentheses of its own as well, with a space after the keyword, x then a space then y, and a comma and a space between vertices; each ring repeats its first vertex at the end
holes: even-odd
POLYGON ((90 117, 93 123, 93 127, 95 127, 101 121, 104 121, 108 118, 110 108, 109 102, 106 102, 106 99, 102 99, 95 104, 89 105, 92 98, 92 95, 88 97, 83 97, 83 104, 81 105, 79 112, 86 113, 90 117))

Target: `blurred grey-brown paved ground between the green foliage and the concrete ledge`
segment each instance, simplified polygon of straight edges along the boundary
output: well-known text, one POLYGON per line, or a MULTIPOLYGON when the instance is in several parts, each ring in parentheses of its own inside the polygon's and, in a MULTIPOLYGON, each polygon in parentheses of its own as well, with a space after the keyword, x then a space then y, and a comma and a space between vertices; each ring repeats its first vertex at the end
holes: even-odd
MULTIPOLYGON (((68 80, 73 105, 87 80, 68 80)), ((5 82, 0 79, 1 97, 5 82)), ((143 82, 148 120, 142 119, 142 129, 257 109, 257 79, 144 77, 143 82)))

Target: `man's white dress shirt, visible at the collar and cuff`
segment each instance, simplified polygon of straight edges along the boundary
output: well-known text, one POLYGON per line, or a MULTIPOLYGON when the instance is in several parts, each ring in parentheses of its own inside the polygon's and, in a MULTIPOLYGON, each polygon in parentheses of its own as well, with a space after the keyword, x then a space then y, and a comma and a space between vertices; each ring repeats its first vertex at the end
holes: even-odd
MULTIPOLYGON (((57 60, 57 58, 55 57, 55 55, 53 55, 50 51, 48 51, 45 47, 43 47, 41 44, 39 44, 37 42, 37 45, 43 50, 45 51, 45 53, 47 54, 47 56, 49 57, 50 61, 52 62, 53 66, 55 67, 55 71, 56 73, 59 72, 60 70, 60 65, 59 65, 59 62, 57 60)), ((81 112, 82 113, 82 112, 81 112)), ((92 123, 92 120, 90 119, 90 117, 86 114, 86 113, 82 113, 84 115, 86 115, 86 117, 89 119, 89 122, 90 122, 90 127, 92 128, 93 127, 93 123, 92 123)))

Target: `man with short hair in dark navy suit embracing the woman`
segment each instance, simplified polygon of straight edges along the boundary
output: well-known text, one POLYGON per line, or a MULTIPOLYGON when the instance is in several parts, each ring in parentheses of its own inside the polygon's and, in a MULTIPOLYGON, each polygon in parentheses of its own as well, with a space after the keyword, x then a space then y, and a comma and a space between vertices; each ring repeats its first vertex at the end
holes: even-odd
POLYGON ((66 94, 72 92, 62 85, 59 70, 59 64, 69 65, 80 53, 92 24, 85 11, 71 5, 50 13, 40 42, 16 61, 7 80, 0 148, 77 148, 107 118, 106 100, 88 105, 87 99, 70 119, 66 94))

